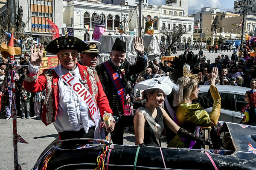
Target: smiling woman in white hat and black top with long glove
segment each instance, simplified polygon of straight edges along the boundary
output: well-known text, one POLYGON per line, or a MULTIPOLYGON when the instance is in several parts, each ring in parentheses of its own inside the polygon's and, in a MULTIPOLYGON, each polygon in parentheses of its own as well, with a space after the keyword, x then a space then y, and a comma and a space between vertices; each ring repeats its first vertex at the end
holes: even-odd
POLYGON ((144 107, 137 109, 134 114, 134 131, 137 145, 161 147, 160 136, 164 125, 180 136, 211 144, 209 139, 201 139, 192 133, 180 128, 161 108, 165 96, 178 89, 169 77, 155 75, 152 79, 137 84, 137 88, 143 91, 146 99, 144 107))

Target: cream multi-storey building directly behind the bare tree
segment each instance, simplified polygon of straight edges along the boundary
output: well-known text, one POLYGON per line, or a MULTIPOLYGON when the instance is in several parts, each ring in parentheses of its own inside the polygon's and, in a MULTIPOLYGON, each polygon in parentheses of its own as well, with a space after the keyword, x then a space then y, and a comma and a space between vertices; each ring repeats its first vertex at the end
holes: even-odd
MULTIPOLYGON (((138 11, 137 11, 138 12, 138 11)), ((154 30, 154 35, 157 37, 158 43, 161 45, 168 45, 166 42, 166 37, 160 34, 160 29, 162 26, 168 27, 172 29, 174 26, 186 25, 188 30, 187 34, 183 34, 180 37, 178 43, 190 43, 193 40, 193 27, 194 27, 194 18, 187 17, 182 7, 179 6, 169 6, 169 5, 161 5, 161 6, 143 6, 143 31, 145 29, 145 17, 154 18, 157 17, 157 21, 153 23, 151 29, 154 30)), ((134 31, 137 33, 137 29, 139 27, 138 17, 136 13, 130 12, 130 31, 134 31), (133 14, 133 15, 132 15, 133 14)))

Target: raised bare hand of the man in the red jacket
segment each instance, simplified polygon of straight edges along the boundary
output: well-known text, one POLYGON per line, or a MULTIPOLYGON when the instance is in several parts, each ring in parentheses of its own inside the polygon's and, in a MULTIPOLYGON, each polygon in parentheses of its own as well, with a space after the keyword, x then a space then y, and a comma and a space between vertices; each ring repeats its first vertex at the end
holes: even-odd
POLYGON ((32 65, 37 65, 40 66, 41 62, 42 62, 42 58, 43 58, 43 52, 44 52, 44 45, 42 45, 41 43, 39 43, 38 45, 38 51, 36 51, 36 44, 34 45, 34 49, 33 47, 30 48, 31 51, 31 55, 30 55, 30 63, 32 65))

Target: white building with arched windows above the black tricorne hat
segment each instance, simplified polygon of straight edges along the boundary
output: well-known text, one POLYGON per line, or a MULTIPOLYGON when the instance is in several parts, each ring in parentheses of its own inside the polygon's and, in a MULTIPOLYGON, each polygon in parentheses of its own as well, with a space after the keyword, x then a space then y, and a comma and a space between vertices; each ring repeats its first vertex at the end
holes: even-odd
POLYGON ((129 31, 128 6, 81 0, 63 1, 63 23, 66 24, 64 27, 73 31, 73 36, 81 40, 93 40, 94 17, 100 14, 103 14, 106 35, 116 34, 115 27, 119 26, 120 21, 123 21, 129 31))

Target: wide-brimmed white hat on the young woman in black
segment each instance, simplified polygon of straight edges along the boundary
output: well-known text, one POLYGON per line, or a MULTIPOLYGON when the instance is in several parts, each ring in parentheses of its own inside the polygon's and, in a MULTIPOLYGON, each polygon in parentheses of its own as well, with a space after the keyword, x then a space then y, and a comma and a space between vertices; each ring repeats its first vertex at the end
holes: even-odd
POLYGON ((153 88, 161 89, 164 94, 171 94, 172 90, 177 91, 179 86, 176 85, 168 76, 164 76, 163 74, 156 74, 152 79, 147 79, 143 82, 139 82, 136 85, 138 90, 148 90, 153 88))

